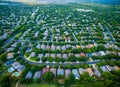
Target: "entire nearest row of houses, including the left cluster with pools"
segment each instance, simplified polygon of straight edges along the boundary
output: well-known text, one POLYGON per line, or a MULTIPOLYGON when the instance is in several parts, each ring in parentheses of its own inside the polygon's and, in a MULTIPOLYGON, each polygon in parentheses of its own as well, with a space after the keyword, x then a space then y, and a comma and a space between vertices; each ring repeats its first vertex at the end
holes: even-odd
MULTIPOLYGON (((25 69, 24 65, 21 65, 20 63, 16 62, 15 60, 11 59, 5 63, 5 66, 8 66, 8 72, 13 73, 14 76, 19 76, 21 72, 25 69)), ((105 66, 100 66, 100 69, 103 72, 111 72, 113 70, 119 70, 120 68, 118 66, 110 66, 110 65, 105 65, 105 66)), ((36 78, 41 78, 42 75, 48 71, 51 71, 54 76, 57 75, 65 75, 67 78, 70 73, 73 73, 75 75, 75 78, 78 79, 80 78, 80 75, 83 74, 84 72, 88 72, 90 76, 101 76, 101 72, 96 67, 92 68, 79 68, 79 69, 55 69, 55 68, 43 68, 42 70, 36 71, 34 74, 31 71, 28 71, 26 74, 25 78, 31 78, 33 76, 34 79, 36 78)))

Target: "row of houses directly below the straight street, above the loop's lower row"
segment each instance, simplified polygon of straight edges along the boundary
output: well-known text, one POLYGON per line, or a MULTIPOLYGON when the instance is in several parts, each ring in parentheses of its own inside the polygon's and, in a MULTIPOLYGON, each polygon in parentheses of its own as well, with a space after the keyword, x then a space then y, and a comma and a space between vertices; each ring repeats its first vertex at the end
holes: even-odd
MULTIPOLYGON (((78 48, 82 48, 82 49, 84 49, 84 48, 92 48, 92 47, 97 47, 99 44, 97 44, 97 43, 94 43, 94 44, 88 44, 88 45, 71 45, 71 44, 66 44, 66 45, 55 45, 55 44, 52 44, 52 45, 49 45, 49 44, 44 44, 44 43, 42 43, 42 44, 40 44, 40 43, 38 43, 37 45, 36 45, 36 48, 38 48, 38 49, 43 49, 43 50, 52 50, 52 51, 54 51, 54 50, 67 50, 68 48, 71 48, 71 49, 78 49, 78 48)), ((32 46, 33 47, 33 45, 30 45, 30 46, 32 46)), ((110 44, 103 44, 103 46, 106 48, 106 49, 108 49, 108 48, 114 48, 114 49, 116 49, 116 50, 119 50, 119 47, 118 46, 116 46, 116 45, 110 45, 110 44)))

